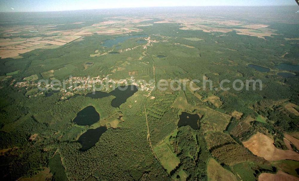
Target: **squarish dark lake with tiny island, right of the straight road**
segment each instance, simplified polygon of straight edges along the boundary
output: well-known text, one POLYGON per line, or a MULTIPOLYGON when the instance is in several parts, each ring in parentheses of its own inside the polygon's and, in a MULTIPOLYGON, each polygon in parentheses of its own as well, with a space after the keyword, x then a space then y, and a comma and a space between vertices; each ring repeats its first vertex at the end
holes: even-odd
POLYGON ((199 115, 197 114, 191 115, 187 112, 182 112, 182 114, 180 115, 178 127, 189 125, 192 129, 199 129, 199 126, 197 124, 198 120, 199 120, 199 115))

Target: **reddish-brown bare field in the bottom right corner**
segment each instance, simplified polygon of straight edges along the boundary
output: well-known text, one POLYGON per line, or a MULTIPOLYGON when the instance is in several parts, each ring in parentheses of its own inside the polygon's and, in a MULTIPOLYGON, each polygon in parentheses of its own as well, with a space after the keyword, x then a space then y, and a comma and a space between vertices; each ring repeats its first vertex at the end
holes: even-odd
POLYGON ((278 171, 277 174, 262 173, 259 176, 259 181, 298 181, 299 178, 278 171))

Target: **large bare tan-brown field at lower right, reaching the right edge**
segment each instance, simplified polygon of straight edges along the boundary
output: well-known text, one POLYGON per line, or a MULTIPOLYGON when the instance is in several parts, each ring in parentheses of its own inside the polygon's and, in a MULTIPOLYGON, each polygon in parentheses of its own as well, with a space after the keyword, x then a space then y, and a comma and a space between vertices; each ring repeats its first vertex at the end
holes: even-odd
POLYGON ((291 150, 281 150, 274 146, 274 141, 262 133, 254 134, 248 141, 242 142, 253 154, 266 160, 297 160, 299 154, 291 150))

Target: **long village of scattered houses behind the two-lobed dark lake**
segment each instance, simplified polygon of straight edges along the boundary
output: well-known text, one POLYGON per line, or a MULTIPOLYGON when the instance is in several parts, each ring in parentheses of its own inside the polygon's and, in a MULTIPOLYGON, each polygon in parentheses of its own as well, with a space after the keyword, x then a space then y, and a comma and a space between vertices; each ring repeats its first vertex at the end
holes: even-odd
POLYGON ((16 80, 11 81, 10 85, 15 88, 21 89, 25 88, 30 91, 32 89, 38 89, 34 95, 28 96, 36 97, 38 95, 44 94, 44 92, 59 91, 62 93, 61 100, 65 100, 76 94, 86 94, 89 92, 96 91, 106 91, 110 92, 118 86, 137 86, 138 90, 150 92, 154 89, 154 84, 145 82, 144 80, 136 81, 134 77, 113 80, 108 76, 97 76, 97 77, 70 77, 69 79, 59 81, 57 79, 52 80, 39 80, 38 82, 33 81, 22 81, 16 82, 16 80))

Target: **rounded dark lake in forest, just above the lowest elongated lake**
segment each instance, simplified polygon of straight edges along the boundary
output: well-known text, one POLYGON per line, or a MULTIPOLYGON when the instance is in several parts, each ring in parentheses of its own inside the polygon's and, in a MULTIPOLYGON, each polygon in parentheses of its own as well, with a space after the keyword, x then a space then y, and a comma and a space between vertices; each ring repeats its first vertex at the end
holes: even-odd
POLYGON ((93 106, 87 106, 78 112, 77 116, 73 120, 74 123, 81 126, 92 125, 100 120, 99 113, 93 106))

